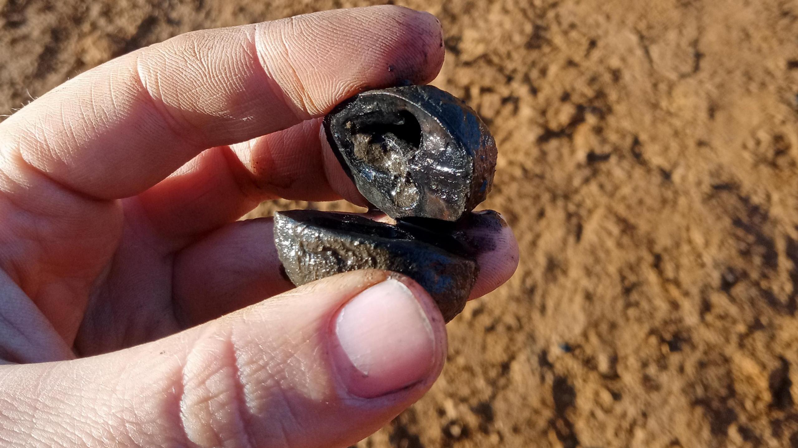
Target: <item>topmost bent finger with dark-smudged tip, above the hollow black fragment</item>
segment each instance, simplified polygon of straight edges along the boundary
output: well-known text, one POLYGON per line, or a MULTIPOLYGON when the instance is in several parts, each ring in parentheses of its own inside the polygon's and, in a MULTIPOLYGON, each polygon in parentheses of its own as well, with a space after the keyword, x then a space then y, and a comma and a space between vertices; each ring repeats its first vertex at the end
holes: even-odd
POLYGON ((440 24, 397 6, 187 33, 76 77, 0 124, 6 158, 90 198, 136 195, 208 147, 430 81, 440 24))

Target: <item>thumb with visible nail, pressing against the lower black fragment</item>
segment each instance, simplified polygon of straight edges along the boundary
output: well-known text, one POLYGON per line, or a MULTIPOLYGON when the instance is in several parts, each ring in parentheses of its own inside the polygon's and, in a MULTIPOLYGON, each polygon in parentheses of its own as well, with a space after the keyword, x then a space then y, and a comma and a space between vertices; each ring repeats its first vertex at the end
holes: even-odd
POLYGON ((358 271, 107 355, 0 369, 10 446, 348 446, 421 398, 443 319, 406 277, 358 271))

